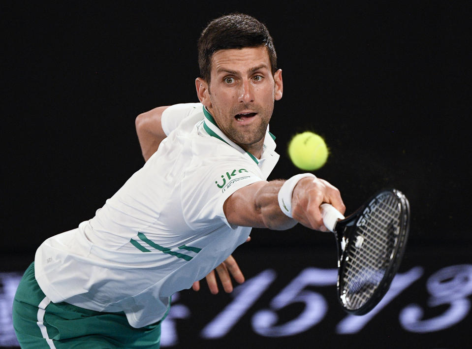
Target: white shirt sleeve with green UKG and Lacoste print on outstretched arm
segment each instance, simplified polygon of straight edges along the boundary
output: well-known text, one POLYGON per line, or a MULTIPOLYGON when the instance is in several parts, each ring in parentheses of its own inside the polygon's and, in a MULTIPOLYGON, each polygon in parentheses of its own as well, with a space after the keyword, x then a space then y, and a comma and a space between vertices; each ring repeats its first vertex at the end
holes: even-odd
POLYGON ((236 190, 262 181, 261 177, 257 165, 243 159, 206 168, 201 166, 196 172, 186 173, 185 184, 182 184, 182 209, 187 224, 191 229, 199 230, 219 221, 234 229, 224 215, 224 201, 236 190))

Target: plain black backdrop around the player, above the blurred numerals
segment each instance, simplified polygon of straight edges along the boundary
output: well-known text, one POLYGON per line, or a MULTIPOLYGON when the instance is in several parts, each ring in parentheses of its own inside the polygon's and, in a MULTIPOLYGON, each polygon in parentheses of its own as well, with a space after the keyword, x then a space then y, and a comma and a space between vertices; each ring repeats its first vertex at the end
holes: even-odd
MULTIPOLYGON (((299 172, 287 142, 315 131, 330 157, 314 173, 341 190, 346 213, 382 187, 408 196, 405 270, 472 262, 469 8, 346 3, 1 2, 2 269, 24 270, 44 239, 92 218, 143 165, 136 116, 198 101, 198 35, 231 11, 267 25, 283 69, 271 122, 281 159, 269 179, 299 172)), ((301 226, 254 229, 235 255, 251 276, 284 264, 252 254, 290 259, 307 246, 335 267, 333 237, 301 226)))

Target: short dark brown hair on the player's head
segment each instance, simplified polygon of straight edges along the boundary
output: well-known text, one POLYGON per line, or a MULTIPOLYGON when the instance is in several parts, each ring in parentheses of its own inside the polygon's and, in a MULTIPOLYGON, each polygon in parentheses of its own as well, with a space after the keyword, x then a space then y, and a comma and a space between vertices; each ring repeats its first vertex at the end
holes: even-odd
POLYGON ((267 47, 272 74, 277 71, 277 54, 267 27, 244 13, 231 13, 211 21, 198 39, 200 77, 210 82, 213 54, 218 50, 267 47))

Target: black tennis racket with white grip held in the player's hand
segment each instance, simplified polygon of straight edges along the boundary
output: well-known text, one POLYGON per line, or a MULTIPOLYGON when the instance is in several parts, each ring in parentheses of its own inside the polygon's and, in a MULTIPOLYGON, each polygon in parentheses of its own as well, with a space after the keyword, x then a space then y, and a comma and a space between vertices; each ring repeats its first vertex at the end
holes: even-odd
POLYGON ((338 299, 350 314, 364 315, 387 292, 403 258, 409 233, 409 202, 396 189, 380 190, 353 214, 320 206, 338 245, 338 299))

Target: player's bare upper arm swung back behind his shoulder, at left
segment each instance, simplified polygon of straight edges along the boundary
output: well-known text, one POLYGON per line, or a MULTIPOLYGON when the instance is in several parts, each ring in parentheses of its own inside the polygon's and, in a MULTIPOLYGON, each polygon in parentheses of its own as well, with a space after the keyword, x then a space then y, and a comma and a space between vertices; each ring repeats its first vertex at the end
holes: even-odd
POLYGON ((153 155, 160 142, 166 137, 162 129, 162 112, 168 106, 157 107, 136 117, 136 133, 144 160, 147 161, 153 155))

